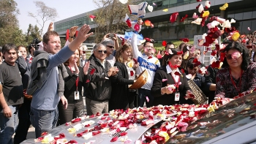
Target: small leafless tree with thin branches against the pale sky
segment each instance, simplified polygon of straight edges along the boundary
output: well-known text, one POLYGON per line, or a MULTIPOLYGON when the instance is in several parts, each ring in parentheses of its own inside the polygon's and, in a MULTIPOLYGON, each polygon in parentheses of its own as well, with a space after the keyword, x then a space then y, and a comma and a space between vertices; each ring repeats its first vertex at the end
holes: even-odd
POLYGON ((47 7, 42 1, 34 1, 34 4, 38 8, 37 14, 34 15, 34 13, 29 12, 29 16, 35 18, 39 26, 41 26, 40 36, 42 36, 42 30, 45 27, 45 22, 48 20, 54 20, 58 16, 58 13, 55 8, 47 7), (40 19, 37 18, 38 16, 40 19))

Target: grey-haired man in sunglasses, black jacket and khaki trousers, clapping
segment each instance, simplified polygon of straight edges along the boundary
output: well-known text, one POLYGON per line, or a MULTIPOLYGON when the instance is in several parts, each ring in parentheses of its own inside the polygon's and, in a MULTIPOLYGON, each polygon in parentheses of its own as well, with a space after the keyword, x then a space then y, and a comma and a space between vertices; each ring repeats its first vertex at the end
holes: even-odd
POLYGON ((116 80, 118 69, 111 67, 105 60, 106 47, 102 44, 94 46, 94 53, 89 58, 90 67, 86 78, 86 110, 87 115, 108 113, 108 100, 111 95, 111 83, 116 80))

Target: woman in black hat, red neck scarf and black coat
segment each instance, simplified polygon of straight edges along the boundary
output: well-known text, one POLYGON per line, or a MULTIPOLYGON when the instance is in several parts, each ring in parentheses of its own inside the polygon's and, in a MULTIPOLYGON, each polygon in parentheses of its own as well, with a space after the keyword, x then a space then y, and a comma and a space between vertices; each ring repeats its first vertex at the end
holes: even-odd
POLYGON ((193 104, 191 99, 184 96, 190 91, 187 77, 178 67, 181 66, 182 51, 177 48, 169 49, 163 61, 166 61, 154 75, 151 94, 154 96, 153 105, 193 104))

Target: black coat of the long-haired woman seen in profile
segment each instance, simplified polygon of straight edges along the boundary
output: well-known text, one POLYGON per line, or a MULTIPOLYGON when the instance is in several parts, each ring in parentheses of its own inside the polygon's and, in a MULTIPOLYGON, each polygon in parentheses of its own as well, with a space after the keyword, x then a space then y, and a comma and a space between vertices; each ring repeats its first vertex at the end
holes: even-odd
POLYGON ((116 61, 114 66, 116 66, 119 71, 116 82, 112 83, 112 94, 109 101, 109 110, 127 110, 129 107, 128 85, 134 83, 134 80, 129 80, 127 67, 123 63, 116 61))

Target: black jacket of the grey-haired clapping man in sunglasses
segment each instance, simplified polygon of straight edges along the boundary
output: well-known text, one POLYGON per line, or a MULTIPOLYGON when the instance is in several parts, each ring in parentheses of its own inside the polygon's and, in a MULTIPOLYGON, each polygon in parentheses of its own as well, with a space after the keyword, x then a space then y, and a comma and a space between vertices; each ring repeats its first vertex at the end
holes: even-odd
POLYGON ((104 68, 94 54, 90 56, 89 61, 88 75, 84 77, 87 81, 84 96, 99 102, 110 99, 112 91, 111 83, 116 80, 117 75, 108 77, 108 70, 111 68, 110 63, 105 61, 104 68), (95 72, 91 74, 92 69, 95 69, 95 72))

